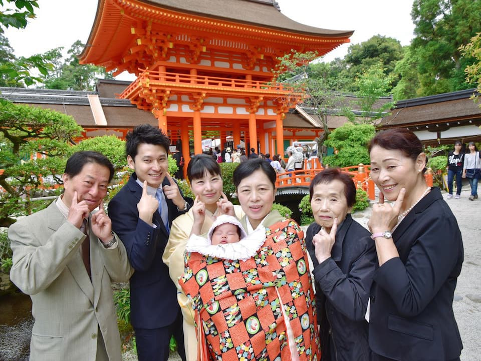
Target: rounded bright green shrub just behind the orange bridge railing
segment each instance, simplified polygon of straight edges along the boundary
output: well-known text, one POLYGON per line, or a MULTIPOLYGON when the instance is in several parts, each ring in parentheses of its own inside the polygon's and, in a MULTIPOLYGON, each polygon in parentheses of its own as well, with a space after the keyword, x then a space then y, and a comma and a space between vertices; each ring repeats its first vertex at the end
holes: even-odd
POLYGON ((338 153, 324 157, 323 163, 341 168, 359 163, 370 164, 366 145, 374 133, 374 126, 368 124, 346 123, 335 129, 325 144, 336 149, 338 153))

